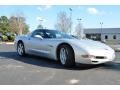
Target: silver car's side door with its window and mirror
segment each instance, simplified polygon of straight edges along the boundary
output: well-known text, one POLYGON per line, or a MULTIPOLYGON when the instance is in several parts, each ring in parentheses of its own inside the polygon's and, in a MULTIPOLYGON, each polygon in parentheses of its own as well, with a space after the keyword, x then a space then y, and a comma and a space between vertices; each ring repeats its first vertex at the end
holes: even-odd
POLYGON ((47 57, 49 51, 46 50, 46 40, 44 38, 44 30, 36 30, 29 37, 29 51, 32 54, 47 57))

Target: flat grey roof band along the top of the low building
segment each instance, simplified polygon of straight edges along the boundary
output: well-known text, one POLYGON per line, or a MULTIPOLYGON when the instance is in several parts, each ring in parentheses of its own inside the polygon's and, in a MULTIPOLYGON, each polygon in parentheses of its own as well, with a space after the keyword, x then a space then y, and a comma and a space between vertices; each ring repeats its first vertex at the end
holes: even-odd
POLYGON ((120 28, 86 28, 84 33, 119 33, 120 28))

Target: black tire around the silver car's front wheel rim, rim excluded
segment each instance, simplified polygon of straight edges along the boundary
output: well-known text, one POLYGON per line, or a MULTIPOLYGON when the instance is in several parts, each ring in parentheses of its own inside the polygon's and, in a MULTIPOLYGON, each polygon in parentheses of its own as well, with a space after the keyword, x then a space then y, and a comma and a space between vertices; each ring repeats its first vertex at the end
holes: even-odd
POLYGON ((69 46, 69 45, 61 45, 58 48, 58 60, 61 62, 61 64, 65 67, 73 67, 75 65, 75 57, 74 57, 74 51, 73 49, 69 46), (63 60, 61 59, 60 53, 61 53, 61 49, 65 49, 66 51, 66 60, 63 63, 63 60))

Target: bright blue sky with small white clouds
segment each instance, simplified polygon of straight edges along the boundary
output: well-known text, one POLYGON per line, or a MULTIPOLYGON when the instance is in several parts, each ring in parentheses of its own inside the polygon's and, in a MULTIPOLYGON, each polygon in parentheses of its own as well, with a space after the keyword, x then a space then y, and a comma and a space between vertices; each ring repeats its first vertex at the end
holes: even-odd
POLYGON ((81 18, 84 28, 120 28, 120 6, 117 5, 1 5, 0 16, 21 14, 26 18, 30 31, 37 28, 39 23, 48 29, 55 29, 57 14, 65 11, 70 16, 72 9, 72 29, 81 18), (42 20, 42 22, 40 22, 42 20))

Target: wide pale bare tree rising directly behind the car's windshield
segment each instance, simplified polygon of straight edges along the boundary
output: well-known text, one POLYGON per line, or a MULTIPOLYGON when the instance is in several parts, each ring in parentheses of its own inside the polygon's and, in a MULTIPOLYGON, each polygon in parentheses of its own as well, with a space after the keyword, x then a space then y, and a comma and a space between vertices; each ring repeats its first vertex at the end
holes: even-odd
POLYGON ((56 29, 70 33, 72 21, 67 16, 66 12, 60 12, 57 15, 57 23, 55 24, 56 29))

